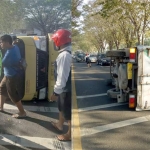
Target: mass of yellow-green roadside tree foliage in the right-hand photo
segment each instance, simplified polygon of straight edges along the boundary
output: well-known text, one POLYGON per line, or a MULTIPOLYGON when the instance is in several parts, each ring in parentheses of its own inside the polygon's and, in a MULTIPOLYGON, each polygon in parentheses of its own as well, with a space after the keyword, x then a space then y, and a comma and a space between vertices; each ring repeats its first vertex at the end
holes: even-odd
POLYGON ((100 51, 144 44, 149 8, 150 0, 95 0, 84 6, 83 39, 100 51))

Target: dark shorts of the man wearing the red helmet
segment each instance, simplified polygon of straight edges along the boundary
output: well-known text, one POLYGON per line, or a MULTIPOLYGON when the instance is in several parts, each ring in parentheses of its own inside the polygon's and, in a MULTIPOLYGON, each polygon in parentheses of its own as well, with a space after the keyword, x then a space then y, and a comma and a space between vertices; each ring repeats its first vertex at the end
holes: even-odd
POLYGON ((71 120, 71 92, 64 92, 59 95, 58 109, 63 113, 66 120, 71 120))

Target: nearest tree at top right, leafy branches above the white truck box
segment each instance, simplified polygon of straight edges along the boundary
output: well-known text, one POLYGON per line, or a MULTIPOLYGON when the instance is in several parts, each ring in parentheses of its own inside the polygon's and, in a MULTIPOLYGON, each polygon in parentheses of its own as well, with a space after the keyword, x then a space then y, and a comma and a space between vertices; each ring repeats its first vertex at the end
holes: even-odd
MULTIPOLYGON (((97 13, 104 18, 120 14, 118 20, 120 21, 121 18, 121 21, 126 20, 128 24, 132 24, 132 32, 128 33, 133 37, 134 32, 137 43, 143 44, 145 32, 148 30, 150 23, 150 0, 132 0, 131 2, 128 0, 97 0, 95 5, 101 7, 101 10, 97 13)), ((126 35, 126 41, 130 41, 130 39, 127 40, 127 37, 129 36, 126 35)))

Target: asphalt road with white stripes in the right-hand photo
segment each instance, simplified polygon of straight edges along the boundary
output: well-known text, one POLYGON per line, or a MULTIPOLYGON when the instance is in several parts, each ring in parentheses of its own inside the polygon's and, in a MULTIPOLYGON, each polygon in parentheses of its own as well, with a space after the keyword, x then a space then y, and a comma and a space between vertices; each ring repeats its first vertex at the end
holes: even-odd
POLYGON ((150 113, 106 95, 113 88, 106 85, 109 67, 74 63, 73 68, 82 150, 150 150, 150 113))

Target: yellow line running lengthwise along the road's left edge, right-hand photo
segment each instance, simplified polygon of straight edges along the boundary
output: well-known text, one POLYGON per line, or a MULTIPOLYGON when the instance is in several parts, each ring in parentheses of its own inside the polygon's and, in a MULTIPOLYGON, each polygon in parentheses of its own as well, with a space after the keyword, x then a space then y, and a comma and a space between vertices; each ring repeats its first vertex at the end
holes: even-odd
POLYGON ((80 121, 72 66, 72 150, 82 150, 80 121))

